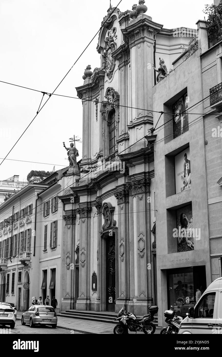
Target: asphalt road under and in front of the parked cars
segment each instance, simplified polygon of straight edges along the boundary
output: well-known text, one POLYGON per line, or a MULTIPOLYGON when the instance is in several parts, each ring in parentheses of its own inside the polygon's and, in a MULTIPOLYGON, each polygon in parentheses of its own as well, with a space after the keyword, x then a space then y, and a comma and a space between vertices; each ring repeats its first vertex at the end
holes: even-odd
MULTIPOLYGON (((1 328, 2 326, 0 326, 1 328)), ((5 327, 6 329, 9 326, 5 327)), ((71 334, 81 334, 80 332, 65 330, 64 328, 52 328, 51 326, 36 326, 36 327, 29 327, 29 325, 21 325, 21 320, 16 320, 15 327, 11 329, 11 334, 29 334, 29 335, 38 335, 38 334, 55 334, 55 335, 71 335, 71 334)))

